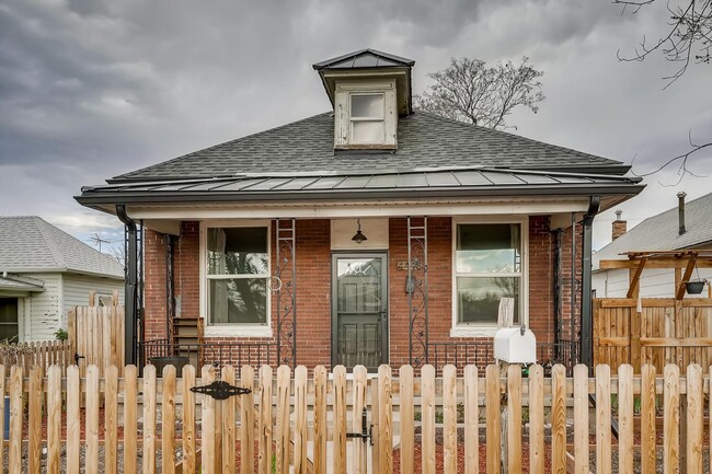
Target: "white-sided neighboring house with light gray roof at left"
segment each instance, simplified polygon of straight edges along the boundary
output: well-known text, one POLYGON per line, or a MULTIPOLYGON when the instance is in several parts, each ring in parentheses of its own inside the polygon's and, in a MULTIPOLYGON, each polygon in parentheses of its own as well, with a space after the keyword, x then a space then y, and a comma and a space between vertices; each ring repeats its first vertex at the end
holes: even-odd
POLYGON ((53 340, 91 291, 101 304, 123 288, 114 258, 38 217, 0 217, 0 340, 53 340))

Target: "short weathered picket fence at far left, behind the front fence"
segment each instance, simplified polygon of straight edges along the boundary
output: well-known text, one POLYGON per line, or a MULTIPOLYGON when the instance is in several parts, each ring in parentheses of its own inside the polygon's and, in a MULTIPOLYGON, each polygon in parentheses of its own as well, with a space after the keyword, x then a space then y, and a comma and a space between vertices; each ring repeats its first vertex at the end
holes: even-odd
MULTIPOLYGON (((59 366, 61 373, 73 363, 74 354, 69 340, 43 340, 37 343, 7 344, 0 347, 0 366, 7 370, 4 377, 10 374, 11 366, 22 366, 25 373, 38 366, 43 373, 49 366, 59 366)), ((1 373, 0 373, 1 374, 1 373)))

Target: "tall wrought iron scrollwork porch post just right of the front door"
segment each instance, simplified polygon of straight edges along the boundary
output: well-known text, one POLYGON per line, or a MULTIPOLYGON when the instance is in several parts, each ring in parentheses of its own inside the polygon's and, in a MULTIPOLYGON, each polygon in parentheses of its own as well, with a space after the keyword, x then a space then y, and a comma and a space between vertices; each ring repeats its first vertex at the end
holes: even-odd
POLYGON ((428 362, 427 217, 407 218, 409 361, 428 362))

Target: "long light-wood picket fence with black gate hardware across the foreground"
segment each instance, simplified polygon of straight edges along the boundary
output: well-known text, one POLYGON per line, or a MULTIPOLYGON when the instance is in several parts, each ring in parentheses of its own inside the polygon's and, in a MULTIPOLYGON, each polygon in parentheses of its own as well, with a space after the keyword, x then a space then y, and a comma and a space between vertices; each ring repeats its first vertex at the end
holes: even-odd
MULTIPOLYGON (((531 366, 522 377, 518 366, 468 366, 458 377, 446 366, 436 378, 435 368, 425 366, 416 378, 410 366, 381 366, 377 377, 364 367, 351 374, 318 367, 310 377, 305 367, 292 372, 283 366, 275 377, 267 366, 257 373, 244 366, 238 377, 227 366, 205 367, 196 379, 187 366, 177 379, 172 366, 162 378, 147 366, 139 379, 134 366, 124 368, 123 378, 116 367, 103 378, 96 366, 85 378, 76 366, 66 378, 57 366, 46 378, 38 368, 26 377, 13 367, 8 380, 0 379, 0 394, 10 396, 11 473, 135 473, 139 466, 143 474, 588 473, 593 464, 593 472, 610 473, 613 458, 629 473, 635 451, 643 473, 657 472, 658 460, 666 473, 709 469, 712 368, 691 365, 685 377, 673 365, 662 377, 652 366, 641 375, 629 365, 618 368, 618 377, 608 366, 595 372, 589 378, 587 367, 576 366, 567 379, 564 367, 554 366, 544 378, 541 366, 531 366), (215 400, 191 391, 218 379, 252 392, 215 400)), ((2 455, 0 450, 0 466, 2 455)))

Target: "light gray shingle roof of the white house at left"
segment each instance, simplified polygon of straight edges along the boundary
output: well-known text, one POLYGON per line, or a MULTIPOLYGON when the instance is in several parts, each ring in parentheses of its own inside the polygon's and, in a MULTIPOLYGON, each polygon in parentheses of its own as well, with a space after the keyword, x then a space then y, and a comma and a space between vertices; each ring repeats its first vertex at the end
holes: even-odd
POLYGON ((36 216, 0 217, 0 271, 74 271, 124 278, 124 267, 36 216))

